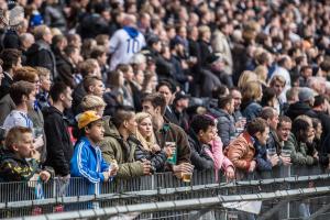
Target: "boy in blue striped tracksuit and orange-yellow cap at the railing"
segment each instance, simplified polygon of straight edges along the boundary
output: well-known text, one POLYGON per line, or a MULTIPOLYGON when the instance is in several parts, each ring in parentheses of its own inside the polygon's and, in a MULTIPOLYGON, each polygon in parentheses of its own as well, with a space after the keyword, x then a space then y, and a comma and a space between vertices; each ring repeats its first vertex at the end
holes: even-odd
POLYGON ((81 194, 99 194, 99 184, 113 177, 118 166, 111 164, 110 167, 97 145, 103 139, 105 133, 101 117, 95 111, 85 111, 77 117, 77 121, 80 139, 76 143, 70 161, 70 175, 72 177, 84 177, 85 183, 79 184, 81 194))

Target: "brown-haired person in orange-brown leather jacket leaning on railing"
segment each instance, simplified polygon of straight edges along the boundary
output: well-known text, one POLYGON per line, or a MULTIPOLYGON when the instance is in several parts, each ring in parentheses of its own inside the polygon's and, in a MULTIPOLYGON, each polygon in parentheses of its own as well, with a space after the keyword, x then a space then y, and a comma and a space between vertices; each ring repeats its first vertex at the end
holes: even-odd
POLYGON ((227 148, 226 154, 237 168, 239 177, 246 173, 272 167, 264 157, 256 157, 257 148, 265 147, 270 129, 264 119, 255 118, 248 122, 246 130, 227 148), (261 163, 261 164, 257 164, 261 163))

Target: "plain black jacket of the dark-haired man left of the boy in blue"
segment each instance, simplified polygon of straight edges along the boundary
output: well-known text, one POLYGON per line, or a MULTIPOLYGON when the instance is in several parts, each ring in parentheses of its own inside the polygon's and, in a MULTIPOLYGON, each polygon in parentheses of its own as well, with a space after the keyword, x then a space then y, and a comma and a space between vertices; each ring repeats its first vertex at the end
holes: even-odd
POLYGON ((44 119, 47 139, 45 164, 52 166, 56 175, 65 176, 70 173, 70 160, 74 153, 66 119, 55 107, 45 109, 44 119))

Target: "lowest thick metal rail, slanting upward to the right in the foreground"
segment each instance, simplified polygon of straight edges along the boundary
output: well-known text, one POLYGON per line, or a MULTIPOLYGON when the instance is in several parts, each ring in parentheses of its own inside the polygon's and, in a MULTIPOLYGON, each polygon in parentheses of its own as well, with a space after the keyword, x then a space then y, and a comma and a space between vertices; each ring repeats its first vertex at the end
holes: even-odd
POLYGON ((238 202, 238 201, 255 201, 255 200, 272 200, 272 199, 295 199, 297 197, 311 197, 323 194, 329 194, 330 187, 316 187, 316 188, 300 188, 290 190, 279 190, 275 193, 261 193, 253 195, 235 195, 235 196, 218 196, 200 199, 187 199, 178 201, 162 201, 148 202, 130 206, 120 206, 111 208, 102 208, 96 210, 81 210, 63 213, 51 213, 37 217, 23 217, 15 218, 15 220, 59 220, 59 219, 75 219, 75 218, 102 218, 110 216, 124 215, 129 212, 155 212, 168 210, 195 210, 207 207, 220 206, 223 202, 238 202))

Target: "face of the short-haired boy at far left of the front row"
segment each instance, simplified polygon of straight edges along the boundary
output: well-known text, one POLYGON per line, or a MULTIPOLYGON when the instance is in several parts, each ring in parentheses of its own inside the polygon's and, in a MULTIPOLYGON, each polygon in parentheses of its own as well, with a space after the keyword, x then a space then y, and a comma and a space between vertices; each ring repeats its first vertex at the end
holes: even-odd
POLYGON ((21 158, 31 157, 34 150, 32 133, 23 133, 21 140, 18 144, 14 144, 13 148, 21 158))

